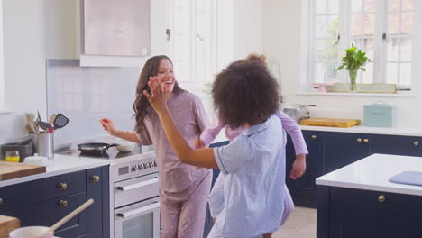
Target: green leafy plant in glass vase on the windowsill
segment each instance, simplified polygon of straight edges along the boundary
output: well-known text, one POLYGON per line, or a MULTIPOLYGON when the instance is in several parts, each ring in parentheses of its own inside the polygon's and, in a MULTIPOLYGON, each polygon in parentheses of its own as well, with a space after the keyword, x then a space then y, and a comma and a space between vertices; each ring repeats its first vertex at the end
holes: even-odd
POLYGON ((357 72, 359 69, 366 71, 366 69, 364 69, 362 66, 364 66, 369 59, 365 56, 365 52, 362 50, 357 50, 353 44, 351 48, 345 51, 346 55, 342 59, 343 64, 339 66, 337 70, 342 70, 344 69, 344 66, 346 67, 346 70, 349 71, 350 77, 350 92, 355 93, 357 72))

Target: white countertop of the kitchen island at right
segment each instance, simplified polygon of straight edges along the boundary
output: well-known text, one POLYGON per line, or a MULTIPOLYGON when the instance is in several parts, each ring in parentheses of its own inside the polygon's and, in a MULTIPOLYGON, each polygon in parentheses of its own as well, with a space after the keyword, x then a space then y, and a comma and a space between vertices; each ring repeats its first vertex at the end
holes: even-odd
POLYGON ((372 154, 316 178, 316 184, 422 196, 422 186, 389 182, 389 178, 403 171, 422 171, 422 158, 372 154))

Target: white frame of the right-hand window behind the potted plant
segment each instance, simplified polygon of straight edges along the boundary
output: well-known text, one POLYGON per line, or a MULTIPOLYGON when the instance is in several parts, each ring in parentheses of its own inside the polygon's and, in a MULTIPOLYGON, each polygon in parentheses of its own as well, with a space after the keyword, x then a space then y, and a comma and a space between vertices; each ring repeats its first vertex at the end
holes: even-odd
MULTIPOLYGON (((338 24, 338 33, 340 35, 340 41, 338 42, 338 50, 337 50, 337 65, 340 65, 341 56, 344 54, 344 50, 349 48, 352 43, 352 36, 350 34, 350 25, 351 25, 351 18, 352 18, 352 7, 351 1, 353 0, 346 0, 338 1, 338 15, 339 15, 339 24, 338 24)), ((401 1, 400 1, 401 3, 401 1)), ((389 0, 375 0, 374 6, 374 32, 373 32, 373 75, 372 75, 372 84, 378 83, 387 83, 387 42, 382 39, 383 33, 388 34, 388 18, 389 18, 389 0), (381 10, 380 10, 381 9, 381 10), (376 63, 381 62, 381 63, 376 63)), ((400 8, 398 13, 401 14, 405 11, 400 8)), ((413 13, 413 19, 415 19, 415 14, 417 11, 417 3, 416 0, 413 1, 413 9, 411 10, 413 13)), ((328 13, 326 13, 328 15, 328 13)), ((311 83, 317 82, 316 80, 316 1, 314 0, 302 0, 302 53, 301 53, 301 62, 302 62, 302 72, 301 72, 301 82, 300 87, 302 92, 311 92, 311 83)), ((415 20, 413 20, 413 25, 415 25, 415 20)), ((413 27, 412 32, 408 36, 412 40, 412 59, 410 60, 410 64, 412 66, 410 73, 410 79, 412 80, 413 77, 413 68, 415 67, 415 59, 414 59, 414 48, 415 48, 415 26, 413 27)), ((396 38, 396 36, 394 36, 396 38)), ((401 36, 399 32, 399 38, 403 39, 404 37, 401 36)), ((407 37, 406 37, 407 38, 407 37)), ((328 39, 328 38, 327 38, 328 39)), ((363 39, 363 38, 358 38, 363 39)), ((398 59, 398 64, 403 60, 398 59)), ((398 69, 398 76, 399 76, 399 69, 398 69)), ((337 72, 337 81, 338 82, 347 82, 347 71, 341 70, 337 72)), ((399 77, 397 78, 396 85, 398 89, 406 89, 409 90, 412 87, 412 83, 410 86, 408 85, 399 85, 399 77)), ((415 87, 415 84, 413 84, 415 87)))

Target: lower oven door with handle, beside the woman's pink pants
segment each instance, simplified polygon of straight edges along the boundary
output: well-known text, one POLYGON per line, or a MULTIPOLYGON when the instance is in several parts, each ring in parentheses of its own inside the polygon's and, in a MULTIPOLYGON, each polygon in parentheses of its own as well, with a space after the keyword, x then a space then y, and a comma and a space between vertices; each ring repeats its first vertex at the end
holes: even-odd
POLYGON ((115 238, 160 238, 160 198, 115 210, 115 238))

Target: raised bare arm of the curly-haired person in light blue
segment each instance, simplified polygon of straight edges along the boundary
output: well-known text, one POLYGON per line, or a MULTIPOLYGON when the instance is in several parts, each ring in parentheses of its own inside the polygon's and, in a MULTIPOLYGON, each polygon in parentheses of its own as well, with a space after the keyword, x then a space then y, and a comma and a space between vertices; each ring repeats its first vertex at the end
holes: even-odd
POLYGON ((166 133, 173 151, 178 155, 179 160, 194 166, 218 169, 213 149, 193 150, 180 134, 179 129, 171 118, 165 101, 165 95, 161 92, 161 86, 157 78, 150 78, 148 85, 151 88, 152 95, 149 95, 146 91, 143 94, 148 98, 150 104, 159 115, 162 128, 166 133))

